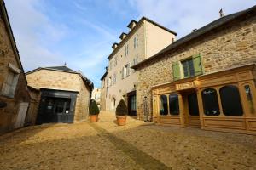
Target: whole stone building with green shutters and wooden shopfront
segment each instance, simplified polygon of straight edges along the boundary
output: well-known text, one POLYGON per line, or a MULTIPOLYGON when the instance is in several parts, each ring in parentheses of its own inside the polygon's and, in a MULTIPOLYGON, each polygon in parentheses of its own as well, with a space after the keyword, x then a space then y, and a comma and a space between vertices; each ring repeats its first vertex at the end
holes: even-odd
POLYGON ((137 96, 142 96, 138 117, 177 127, 255 133, 255 40, 256 6, 222 16, 134 65, 137 96))

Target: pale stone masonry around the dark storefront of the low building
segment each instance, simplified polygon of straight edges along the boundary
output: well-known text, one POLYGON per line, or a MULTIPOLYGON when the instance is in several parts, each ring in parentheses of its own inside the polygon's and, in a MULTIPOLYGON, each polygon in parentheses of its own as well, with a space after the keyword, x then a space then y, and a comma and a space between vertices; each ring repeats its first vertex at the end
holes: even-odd
POLYGON ((90 88, 77 73, 65 71, 39 70, 26 75, 29 86, 33 88, 60 89, 79 92, 75 106, 74 121, 89 116, 90 88))

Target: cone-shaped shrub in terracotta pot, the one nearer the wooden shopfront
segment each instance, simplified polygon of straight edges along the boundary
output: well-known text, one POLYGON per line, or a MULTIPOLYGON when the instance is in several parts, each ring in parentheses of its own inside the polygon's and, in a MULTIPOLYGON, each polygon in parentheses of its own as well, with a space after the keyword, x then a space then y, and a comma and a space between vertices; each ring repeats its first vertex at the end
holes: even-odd
POLYGON ((117 118, 117 124, 123 126, 126 123, 126 115, 128 113, 127 106, 124 99, 121 99, 119 105, 116 108, 115 114, 117 118))

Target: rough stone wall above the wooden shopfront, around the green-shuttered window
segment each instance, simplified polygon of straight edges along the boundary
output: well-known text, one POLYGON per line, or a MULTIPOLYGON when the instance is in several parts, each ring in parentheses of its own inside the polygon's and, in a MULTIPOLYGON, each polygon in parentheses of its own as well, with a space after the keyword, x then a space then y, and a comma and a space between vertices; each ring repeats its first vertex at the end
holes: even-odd
POLYGON ((150 87, 173 81, 173 61, 201 54, 204 74, 256 63, 255 40, 256 17, 242 18, 148 61, 137 69, 137 115, 143 118, 143 96, 148 96, 152 113, 150 87))

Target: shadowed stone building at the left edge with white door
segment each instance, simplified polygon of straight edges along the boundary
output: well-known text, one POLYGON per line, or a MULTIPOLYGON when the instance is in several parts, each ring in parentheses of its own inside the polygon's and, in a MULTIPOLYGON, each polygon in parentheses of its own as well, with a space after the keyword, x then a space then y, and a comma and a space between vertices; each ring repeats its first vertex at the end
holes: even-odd
POLYGON ((29 102, 15 37, 0 0, 0 134, 24 126, 29 102))

